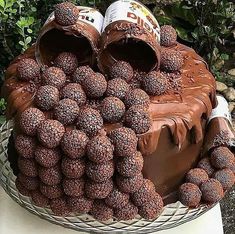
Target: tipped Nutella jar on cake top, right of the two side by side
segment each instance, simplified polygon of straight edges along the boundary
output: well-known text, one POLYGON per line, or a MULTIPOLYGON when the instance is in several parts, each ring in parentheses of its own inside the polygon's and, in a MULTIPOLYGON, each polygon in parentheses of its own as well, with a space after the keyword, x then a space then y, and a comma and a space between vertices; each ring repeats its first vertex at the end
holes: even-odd
POLYGON ((98 66, 108 72, 117 60, 141 71, 158 69, 160 26, 152 12, 135 0, 119 0, 105 13, 98 66))

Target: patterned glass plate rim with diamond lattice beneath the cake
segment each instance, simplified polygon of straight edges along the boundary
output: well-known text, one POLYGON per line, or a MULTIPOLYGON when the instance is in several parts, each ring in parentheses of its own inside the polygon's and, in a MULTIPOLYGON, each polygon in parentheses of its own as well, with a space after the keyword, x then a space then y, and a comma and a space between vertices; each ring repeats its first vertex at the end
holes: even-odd
POLYGON ((180 202, 167 205, 163 213, 156 220, 148 221, 137 217, 131 221, 99 222, 89 215, 75 215, 68 217, 56 216, 47 208, 35 206, 31 199, 21 195, 15 187, 15 176, 7 160, 7 144, 12 131, 13 123, 5 122, 0 134, 0 182, 6 193, 19 205, 31 213, 49 222, 63 227, 86 231, 89 233, 151 233, 178 226, 204 214, 212 207, 200 206, 197 209, 188 209, 180 202))

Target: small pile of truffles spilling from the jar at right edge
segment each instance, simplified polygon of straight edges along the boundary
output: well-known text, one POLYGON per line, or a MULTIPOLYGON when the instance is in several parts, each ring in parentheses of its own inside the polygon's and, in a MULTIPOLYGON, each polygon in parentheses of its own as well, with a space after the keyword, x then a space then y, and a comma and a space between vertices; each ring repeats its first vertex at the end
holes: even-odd
POLYGON ((184 205, 214 204, 234 185, 235 157, 226 144, 226 135, 223 130, 217 134, 215 141, 221 141, 209 150, 209 156, 198 162, 197 168, 186 174, 185 183, 179 188, 179 200, 184 205))

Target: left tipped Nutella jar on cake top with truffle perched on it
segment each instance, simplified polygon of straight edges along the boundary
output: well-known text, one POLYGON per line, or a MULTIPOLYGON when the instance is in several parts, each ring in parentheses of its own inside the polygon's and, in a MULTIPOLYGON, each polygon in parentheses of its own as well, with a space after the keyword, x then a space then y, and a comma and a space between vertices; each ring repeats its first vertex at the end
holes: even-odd
POLYGON ((93 8, 78 6, 79 17, 74 25, 61 26, 52 13, 36 42, 36 59, 41 65, 51 65, 64 51, 75 53, 79 65, 93 65, 98 53, 104 17, 93 8))

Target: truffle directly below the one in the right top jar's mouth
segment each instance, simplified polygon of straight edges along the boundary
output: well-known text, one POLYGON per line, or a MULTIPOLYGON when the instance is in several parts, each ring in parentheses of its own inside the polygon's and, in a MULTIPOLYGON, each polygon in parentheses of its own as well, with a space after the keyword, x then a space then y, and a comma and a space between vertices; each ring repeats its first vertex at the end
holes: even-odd
POLYGON ((129 84, 125 80, 121 78, 112 79, 108 81, 106 95, 124 100, 129 89, 129 84))

